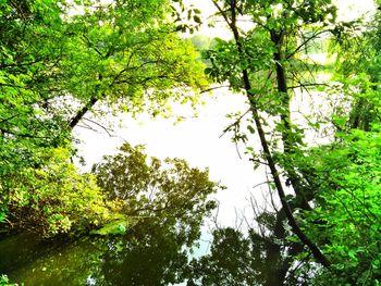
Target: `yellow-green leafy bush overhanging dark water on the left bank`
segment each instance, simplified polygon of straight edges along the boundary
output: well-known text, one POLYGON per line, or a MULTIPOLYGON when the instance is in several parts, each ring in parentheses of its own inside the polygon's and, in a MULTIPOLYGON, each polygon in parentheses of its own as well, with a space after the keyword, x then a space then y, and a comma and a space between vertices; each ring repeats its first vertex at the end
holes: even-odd
POLYGON ((49 161, 38 169, 19 167, 2 175, 1 197, 10 226, 51 236, 72 228, 84 231, 108 219, 94 176, 79 174, 67 153, 53 149, 41 154, 49 161))

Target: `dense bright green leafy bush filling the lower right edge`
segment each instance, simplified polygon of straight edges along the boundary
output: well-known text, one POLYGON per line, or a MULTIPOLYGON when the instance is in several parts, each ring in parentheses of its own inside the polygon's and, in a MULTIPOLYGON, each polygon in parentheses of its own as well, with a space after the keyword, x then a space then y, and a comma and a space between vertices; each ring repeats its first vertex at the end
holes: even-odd
POLYGON ((341 142, 312 149, 300 169, 314 169, 318 186, 316 208, 307 215, 306 231, 331 258, 323 271, 335 285, 373 285, 380 279, 380 132, 354 129, 341 142), (317 222, 320 222, 319 224, 317 222))

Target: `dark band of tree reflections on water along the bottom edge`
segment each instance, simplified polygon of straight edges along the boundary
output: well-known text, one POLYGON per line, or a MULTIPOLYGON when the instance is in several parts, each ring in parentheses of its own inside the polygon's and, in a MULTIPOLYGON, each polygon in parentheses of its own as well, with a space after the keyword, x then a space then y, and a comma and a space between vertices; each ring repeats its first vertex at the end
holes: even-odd
POLYGON ((185 241, 160 223, 69 241, 24 234, 0 240, 0 273, 26 286, 300 285, 290 272, 293 246, 276 245, 273 233, 214 229, 210 252, 194 259, 185 241))

